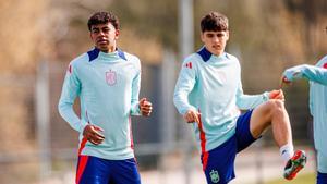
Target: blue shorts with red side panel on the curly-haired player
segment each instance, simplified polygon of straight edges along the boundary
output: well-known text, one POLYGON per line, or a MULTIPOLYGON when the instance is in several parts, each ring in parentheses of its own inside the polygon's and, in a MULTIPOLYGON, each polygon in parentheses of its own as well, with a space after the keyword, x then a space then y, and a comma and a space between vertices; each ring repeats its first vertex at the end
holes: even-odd
POLYGON ((78 156, 76 184, 141 184, 135 159, 78 156))

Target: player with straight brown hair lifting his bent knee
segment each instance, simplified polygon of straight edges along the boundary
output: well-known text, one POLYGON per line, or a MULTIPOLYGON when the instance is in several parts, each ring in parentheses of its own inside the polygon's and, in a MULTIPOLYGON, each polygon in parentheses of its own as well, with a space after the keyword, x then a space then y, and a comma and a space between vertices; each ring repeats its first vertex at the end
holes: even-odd
POLYGON ((183 64, 173 101, 192 123, 208 184, 229 183, 234 175, 235 155, 262 136, 268 126, 293 179, 306 162, 304 151, 293 151, 292 133, 281 90, 244 95, 239 60, 225 52, 229 39, 228 19, 210 12, 201 21, 197 52, 183 64), (240 110, 249 110, 240 114, 240 110))

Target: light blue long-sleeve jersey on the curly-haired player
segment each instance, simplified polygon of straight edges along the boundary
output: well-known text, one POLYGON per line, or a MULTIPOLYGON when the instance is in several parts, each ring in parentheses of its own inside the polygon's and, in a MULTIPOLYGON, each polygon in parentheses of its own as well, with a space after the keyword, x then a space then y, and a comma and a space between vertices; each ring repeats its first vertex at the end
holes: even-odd
POLYGON ((58 105, 61 116, 80 132, 80 154, 110 160, 134 157, 130 115, 138 115, 141 64, 121 50, 105 53, 93 49, 69 65, 58 105), (73 110, 80 97, 81 118, 73 110), (94 145, 83 130, 94 124, 105 140, 94 145))

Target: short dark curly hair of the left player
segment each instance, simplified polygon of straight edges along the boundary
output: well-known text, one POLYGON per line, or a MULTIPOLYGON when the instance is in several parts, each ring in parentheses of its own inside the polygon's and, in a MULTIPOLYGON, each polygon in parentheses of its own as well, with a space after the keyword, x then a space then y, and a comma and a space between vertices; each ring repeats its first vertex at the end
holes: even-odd
POLYGON ((111 23, 116 29, 119 29, 119 20, 111 12, 96 12, 94 13, 87 22, 88 30, 90 30, 93 25, 111 23))

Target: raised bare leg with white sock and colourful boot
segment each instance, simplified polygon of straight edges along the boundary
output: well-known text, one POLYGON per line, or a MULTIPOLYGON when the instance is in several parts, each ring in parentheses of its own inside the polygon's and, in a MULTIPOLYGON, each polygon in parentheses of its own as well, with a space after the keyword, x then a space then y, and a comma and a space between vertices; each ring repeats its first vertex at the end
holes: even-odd
POLYGON ((290 119, 282 100, 271 99, 253 110, 250 120, 250 130, 254 138, 271 125, 274 139, 280 149, 286 162, 284 177, 292 180, 304 167, 306 157, 304 151, 293 151, 292 131, 290 119))

